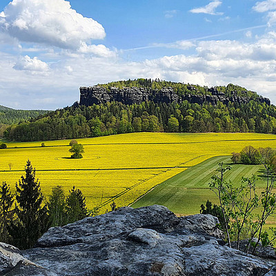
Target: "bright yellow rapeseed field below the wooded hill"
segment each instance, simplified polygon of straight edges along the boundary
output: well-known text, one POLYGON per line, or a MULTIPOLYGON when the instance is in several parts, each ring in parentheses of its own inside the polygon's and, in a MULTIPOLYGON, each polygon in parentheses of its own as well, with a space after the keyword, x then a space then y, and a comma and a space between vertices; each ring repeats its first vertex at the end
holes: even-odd
MULTIPOLYGON (((117 206, 129 205, 157 184, 210 157, 230 155, 248 145, 276 145, 275 135, 255 133, 142 132, 77 139, 84 146, 83 159, 70 159, 69 141, 45 141, 46 147, 41 147, 43 141, 6 143, 8 148, 0 150, 0 182, 6 181, 14 189, 30 159, 44 195, 50 195, 57 185, 63 186, 66 193, 76 186, 86 196, 88 208, 101 207, 103 213, 112 201, 117 206), (8 164, 12 164, 11 170, 8 164)), ((197 188, 201 188, 200 183, 197 188)), ((206 189, 201 190, 206 201, 210 197, 206 189)), ((198 195, 198 191, 194 194, 198 195)), ((177 204, 187 201, 186 194, 171 197, 176 198, 177 204)), ((198 213, 198 207, 185 210, 176 211, 198 213)))

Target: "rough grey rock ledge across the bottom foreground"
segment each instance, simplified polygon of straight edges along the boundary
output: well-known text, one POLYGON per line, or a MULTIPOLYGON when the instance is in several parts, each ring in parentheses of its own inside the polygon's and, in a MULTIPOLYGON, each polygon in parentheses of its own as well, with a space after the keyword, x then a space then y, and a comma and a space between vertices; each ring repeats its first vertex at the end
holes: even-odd
POLYGON ((0 275, 276 275, 273 259, 224 246, 212 215, 121 208, 50 228, 35 248, 0 244, 0 275))

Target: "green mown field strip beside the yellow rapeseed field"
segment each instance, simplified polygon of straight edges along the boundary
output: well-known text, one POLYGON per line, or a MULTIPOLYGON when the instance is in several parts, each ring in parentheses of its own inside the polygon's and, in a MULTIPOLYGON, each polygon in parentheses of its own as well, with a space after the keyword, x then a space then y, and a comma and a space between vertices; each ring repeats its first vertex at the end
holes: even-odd
POLYGON ((208 184, 211 177, 217 173, 217 164, 220 162, 231 166, 231 170, 228 170, 224 176, 226 181, 230 180, 233 185, 239 185, 242 177, 251 177, 254 174, 258 176, 257 190, 266 186, 262 165, 231 164, 230 157, 212 157, 159 184, 132 204, 132 207, 160 204, 167 206, 174 213, 192 215, 199 213, 200 205, 205 205, 207 199, 214 204, 219 204, 217 196, 209 189, 208 184))

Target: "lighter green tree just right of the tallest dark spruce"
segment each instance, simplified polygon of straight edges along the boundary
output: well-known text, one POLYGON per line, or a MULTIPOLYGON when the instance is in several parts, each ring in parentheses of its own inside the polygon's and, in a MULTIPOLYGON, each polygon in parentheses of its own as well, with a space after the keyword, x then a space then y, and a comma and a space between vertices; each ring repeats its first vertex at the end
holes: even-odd
POLYGON ((51 226, 63 226, 66 224, 65 206, 65 195, 62 187, 52 188, 52 194, 48 201, 51 226))

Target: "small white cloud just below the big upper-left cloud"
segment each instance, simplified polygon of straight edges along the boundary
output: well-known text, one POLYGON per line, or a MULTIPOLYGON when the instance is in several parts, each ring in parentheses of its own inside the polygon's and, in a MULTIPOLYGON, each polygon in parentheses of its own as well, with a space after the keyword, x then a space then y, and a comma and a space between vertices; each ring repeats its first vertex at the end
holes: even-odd
POLYGON ((37 57, 31 59, 28 55, 21 57, 17 63, 14 64, 15 70, 25 70, 32 73, 46 73, 49 70, 49 66, 46 62, 39 60, 37 57))

